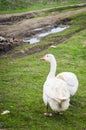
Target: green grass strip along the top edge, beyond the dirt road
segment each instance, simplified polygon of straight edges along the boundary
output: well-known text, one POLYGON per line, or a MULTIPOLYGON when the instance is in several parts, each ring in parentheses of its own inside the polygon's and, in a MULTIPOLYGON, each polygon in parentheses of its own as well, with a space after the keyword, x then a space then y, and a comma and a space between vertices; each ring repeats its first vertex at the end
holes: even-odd
POLYGON ((44 1, 37 1, 37 2, 25 2, 22 0, 22 2, 8 2, 8 1, 2 1, 0 3, 0 14, 9 14, 9 13, 21 13, 21 12, 27 12, 27 11, 33 11, 33 10, 41 10, 44 8, 53 8, 53 7, 60 7, 64 5, 71 5, 71 4, 80 4, 85 3, 84 0, 65 0, 64 1, 58 1, 58 2, 44 2, 44 1))

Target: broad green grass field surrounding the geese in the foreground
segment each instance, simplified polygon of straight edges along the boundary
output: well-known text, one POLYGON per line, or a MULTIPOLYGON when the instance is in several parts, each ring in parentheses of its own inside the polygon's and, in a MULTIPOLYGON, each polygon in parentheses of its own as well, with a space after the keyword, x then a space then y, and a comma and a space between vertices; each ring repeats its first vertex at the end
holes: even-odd
MULTIPOLYGON (((81 20, 80 18, 78 22, 81 20)), ((79 25, 79 23, 77 24, 79 25)), ((64 33, 67 33, 67 31, 65 30, 64 33)), ((54 35, 50 37, 52 38, 54 35)), ((10 114, 0 115, 0 128, 10 130, 85 129, 85 65, 85 29, 59 44, 55 49, 48 48, 41 53, 21 59, 12 59, 9 55, 1 58, 0 113, 8 109, 10 114), (42 101, 42 89, 49 72, 49 64, 40 61, 40 57, 45 53, 55 55, 58 63, 57 73, 71 71, 76 73, 79 79, 79 90, 71 98, 72 106, 63 115, 57 116, 54 114, 51 118, 43 115, 45 105, 42 101)))

